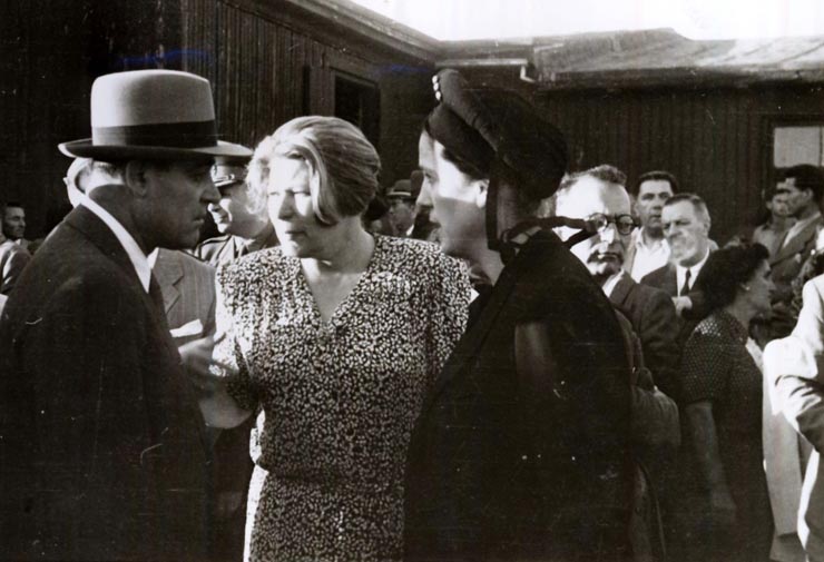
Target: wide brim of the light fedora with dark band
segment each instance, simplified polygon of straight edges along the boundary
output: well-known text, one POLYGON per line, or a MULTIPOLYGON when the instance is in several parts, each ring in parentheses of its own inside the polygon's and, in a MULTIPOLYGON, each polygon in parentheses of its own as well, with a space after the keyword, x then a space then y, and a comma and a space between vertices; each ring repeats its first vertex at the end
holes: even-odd
POLYGON ((169 148, 122 145, 94 145, 91 139, 61 142, 58 149, 73 158, 95 158, 98 160, 153 159, 153 160, 198 160, 216 156, 251 157, 248 148, 218 140, 216 146, 200 148, 169 148))

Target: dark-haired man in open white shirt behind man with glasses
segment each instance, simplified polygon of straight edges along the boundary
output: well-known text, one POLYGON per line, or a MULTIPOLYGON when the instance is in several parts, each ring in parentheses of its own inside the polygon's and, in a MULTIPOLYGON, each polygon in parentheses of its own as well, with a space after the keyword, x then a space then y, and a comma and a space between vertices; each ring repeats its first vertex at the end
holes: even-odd
POLYGON ((624 268, 640 282, 645 275, 663 267, 669 259, 669 245, 664 237, 661 209, 678 190, 678 180, 668 171, 641 174, 636 183, 635 210, 641 227, 632 233, 624 268))

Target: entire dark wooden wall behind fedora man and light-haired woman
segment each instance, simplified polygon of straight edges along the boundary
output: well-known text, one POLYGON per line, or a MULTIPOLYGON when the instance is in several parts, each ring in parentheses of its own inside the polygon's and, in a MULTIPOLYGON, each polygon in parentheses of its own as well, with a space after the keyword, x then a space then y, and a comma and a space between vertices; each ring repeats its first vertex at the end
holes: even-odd
POLYGON ((98 76, 184 69, 213 83, 226 140, 254 147, 286 120, 333 112, 334 72, 380 88, 382 183, 409 177, 434 100, 432 66, 278 0, 0 2, 0 200, 27 207, 27 237, 66 210, 61 141, 90 136, 98 76))

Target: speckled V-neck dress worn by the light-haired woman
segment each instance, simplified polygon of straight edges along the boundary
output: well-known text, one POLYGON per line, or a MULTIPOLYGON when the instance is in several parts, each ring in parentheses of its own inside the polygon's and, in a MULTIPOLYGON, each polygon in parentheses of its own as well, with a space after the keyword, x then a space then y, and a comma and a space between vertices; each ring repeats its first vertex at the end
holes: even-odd
POLYGON ((239 373, 229 394, 265 413, 248 559, 399 560, 406 448, 464 329, 465 268, 377 236, 328 322, 279 248, 218 269, 217 289, 215 355, 239 373))

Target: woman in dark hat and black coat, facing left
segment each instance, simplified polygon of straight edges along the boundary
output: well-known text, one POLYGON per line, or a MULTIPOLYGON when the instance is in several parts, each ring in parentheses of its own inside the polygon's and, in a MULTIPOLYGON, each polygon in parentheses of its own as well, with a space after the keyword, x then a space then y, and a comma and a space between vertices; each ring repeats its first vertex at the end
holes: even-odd
POLYGON ((629 367, 612 307, 540 220, 562 135, 519 97, 434 80, 420 138, 442 250, 491 288, 424 403, 408 463, 408 560, 628 554, 629 367))

